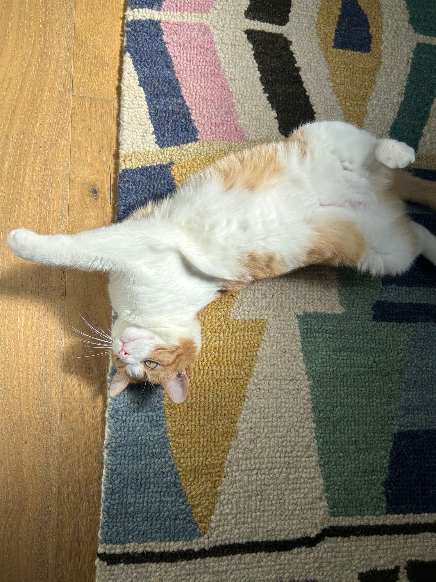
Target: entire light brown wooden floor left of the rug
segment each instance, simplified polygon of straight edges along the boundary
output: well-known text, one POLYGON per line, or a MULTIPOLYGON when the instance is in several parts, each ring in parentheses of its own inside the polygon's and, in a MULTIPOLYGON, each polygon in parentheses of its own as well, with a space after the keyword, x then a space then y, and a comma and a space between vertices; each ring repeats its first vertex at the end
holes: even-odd
POLYGON ((40 267, 9 230, 112 221, 124 0, 0 0, 0 580, 91 581, 109 328, 103 276, 40 267))

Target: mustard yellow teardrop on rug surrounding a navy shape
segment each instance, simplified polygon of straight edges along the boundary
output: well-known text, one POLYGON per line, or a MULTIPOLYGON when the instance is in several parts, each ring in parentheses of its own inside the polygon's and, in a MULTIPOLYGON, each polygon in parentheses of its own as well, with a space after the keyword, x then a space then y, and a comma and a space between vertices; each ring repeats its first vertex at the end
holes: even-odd
POLYGON ((359 0, 369 22, 371 51, 333 48, 341 4, 341 0, 324 0, 319 10, 316 29, 327 61, 331 85, 344 111, 345 121, 362 127, 381 66, 383 15, 378 0, 359 0))

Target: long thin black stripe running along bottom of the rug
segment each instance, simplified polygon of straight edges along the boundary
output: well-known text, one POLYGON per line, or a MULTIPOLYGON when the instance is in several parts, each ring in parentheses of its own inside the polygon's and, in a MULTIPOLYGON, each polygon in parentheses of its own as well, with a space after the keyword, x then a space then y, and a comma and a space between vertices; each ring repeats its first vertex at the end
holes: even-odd
POLYGON ((398 523, 378 526, 331 526, 319 533, 293 540, 269 540, 223 544, 201 549, 181 549, 171 552, 124 552, 97 553, 97 557, 108 566, 116 564, 143 564, 159 562, 181 562, 199 558, 222 558, 243 553, 290 552, 296 548, 313 548, 327 538, 369 537, 371 535, 417 535, 436 533, 436 523, 398 523))

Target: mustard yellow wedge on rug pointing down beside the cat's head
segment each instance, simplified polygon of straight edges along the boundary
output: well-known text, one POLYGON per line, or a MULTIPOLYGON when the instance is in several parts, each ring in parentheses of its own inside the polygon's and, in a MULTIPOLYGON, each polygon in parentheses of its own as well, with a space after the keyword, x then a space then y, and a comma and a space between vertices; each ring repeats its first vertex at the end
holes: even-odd
POLYGON ((231 319, 236 298, 225 293, 202 311, 203 348, 187 399, 174 404, 165 395, 163 402, 174 463, 201 535, 215 510, 266 327, 265 320, 231 319))

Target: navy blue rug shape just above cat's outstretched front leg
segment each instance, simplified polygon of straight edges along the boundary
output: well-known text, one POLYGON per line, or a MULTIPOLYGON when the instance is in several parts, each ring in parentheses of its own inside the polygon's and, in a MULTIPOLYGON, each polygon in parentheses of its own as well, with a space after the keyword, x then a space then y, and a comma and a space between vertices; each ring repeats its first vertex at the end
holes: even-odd
POLYGON ((137 208, 159 200, 176 189, 171 163, 121 170, 118 176, 117 221, 137 208))

